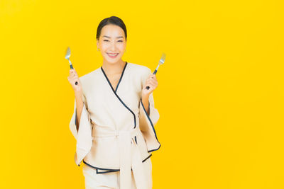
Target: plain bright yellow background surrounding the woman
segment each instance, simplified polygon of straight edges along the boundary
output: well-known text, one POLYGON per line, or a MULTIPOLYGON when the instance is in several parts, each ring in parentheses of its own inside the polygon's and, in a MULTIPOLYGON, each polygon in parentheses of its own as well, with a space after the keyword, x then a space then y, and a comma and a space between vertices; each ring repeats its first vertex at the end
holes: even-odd
POLYGON ((153 188, 284 188, 281 1, 0 1, 0 188, 84 188, 69 130, 77 73, 119 16, 127 62, 155 69, 153 188))

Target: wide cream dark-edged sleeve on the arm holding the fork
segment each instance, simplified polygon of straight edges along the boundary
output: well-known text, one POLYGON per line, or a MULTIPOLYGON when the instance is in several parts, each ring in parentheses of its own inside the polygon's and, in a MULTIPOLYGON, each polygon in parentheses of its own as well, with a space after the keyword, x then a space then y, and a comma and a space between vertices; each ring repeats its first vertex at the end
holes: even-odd
MULTIPOLYGON (((142 88, 145 87, 146 79, 148 79, 150 75, 151 75, 151 69, 147 68, 146 74, 143 74, 141 79, 142 88)), ((142 103, 142 97, 141 97, 139 103, 139 125, 140 125, 139 127, 146 140, 148 151, 155 151, 160 148, 160 142, 158 142, 158 137, 154 128, 154 126, 156 125, 156 123, 160 118, 160 114, 157 108, 155 108, 153 92, 149 95, 148 103, 149 103, 148 105, 149 115, 142 103)))

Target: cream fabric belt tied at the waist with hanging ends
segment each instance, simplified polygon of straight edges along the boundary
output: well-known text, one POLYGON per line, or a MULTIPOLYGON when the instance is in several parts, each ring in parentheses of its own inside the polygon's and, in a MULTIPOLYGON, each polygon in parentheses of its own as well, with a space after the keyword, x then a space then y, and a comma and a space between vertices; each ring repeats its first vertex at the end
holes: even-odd
POLYGON ((120 167, 120 188, 131 189, 131 166, 137 189, 146 189, 149 181, 146 179, 143 170, 143 162, 138 144, 134 141, 134 137, 138 135, 140 127, 136 125, 133 130, 109 130, 106 127, 94 125, 94 137, 111 137, 119 138, 119 167, 120 167), (98 127, 97 127, 98 126, 98 127), (133 147, 131 148, 131 144, 133 147))

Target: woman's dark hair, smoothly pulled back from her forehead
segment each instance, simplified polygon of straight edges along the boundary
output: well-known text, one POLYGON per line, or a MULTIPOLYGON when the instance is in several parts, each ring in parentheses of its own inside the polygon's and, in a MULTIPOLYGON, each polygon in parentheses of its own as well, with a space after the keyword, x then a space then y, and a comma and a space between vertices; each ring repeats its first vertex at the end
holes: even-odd
POLYGON ((119 17, 111 16, 109 18, 104 18, 104 20, 99 23, 99 26, 97 28, 97 40, 99 40, 99 35, 101 35, 102 28, 104 28, 105 25, 109 24, 118 25, 120 28, 122 28, 122 30, 124 30, 125 40, 127 39, 127 31, 124 21, 122 21, 119 17))

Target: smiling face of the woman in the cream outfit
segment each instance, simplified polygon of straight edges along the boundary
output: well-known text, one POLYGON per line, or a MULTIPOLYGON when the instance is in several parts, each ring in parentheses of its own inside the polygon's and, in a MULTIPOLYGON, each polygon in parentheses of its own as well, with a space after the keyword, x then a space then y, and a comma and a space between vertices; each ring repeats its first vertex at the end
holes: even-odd
POLYGON ((105 25, 97 40, 97 47, 101 50, 104 61, 110 64, 119 62, 126 48, 124 30, 118 25, 105 25))

